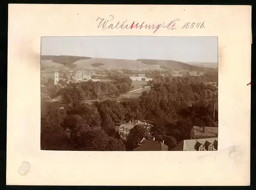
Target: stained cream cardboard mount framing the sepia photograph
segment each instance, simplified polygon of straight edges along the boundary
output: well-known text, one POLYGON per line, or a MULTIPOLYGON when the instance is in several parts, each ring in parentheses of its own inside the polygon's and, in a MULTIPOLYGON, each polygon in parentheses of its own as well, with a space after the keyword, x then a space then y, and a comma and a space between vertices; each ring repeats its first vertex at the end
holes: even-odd
POLYGON ((8 11, 7 184, 250 184, 250 6, 9 4, 8 11), (43 36, 218 37, 218 151, 40 150, 43 36))

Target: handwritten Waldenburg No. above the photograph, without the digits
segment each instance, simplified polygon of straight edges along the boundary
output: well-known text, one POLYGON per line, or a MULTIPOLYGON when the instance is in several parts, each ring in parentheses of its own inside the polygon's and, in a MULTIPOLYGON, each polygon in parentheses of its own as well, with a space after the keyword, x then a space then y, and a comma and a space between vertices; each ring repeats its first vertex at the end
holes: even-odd
POLYGON ((110 15, 109 18, 97 18, 98 28, 102 28, 102 30, 106 29, 149 29, 152 30, 153 33, 157 32, 158 29, 164 28, 167 30, 175 30, 176 29, 176 22, 179 21, 179 18, 176 18, 172 21, 169 21, 167 24, 165 22, 159 22, 157 24, 149 24, 145 22, 128 22, 127 20, 124 21, 115 21, 114 16, 110 15))

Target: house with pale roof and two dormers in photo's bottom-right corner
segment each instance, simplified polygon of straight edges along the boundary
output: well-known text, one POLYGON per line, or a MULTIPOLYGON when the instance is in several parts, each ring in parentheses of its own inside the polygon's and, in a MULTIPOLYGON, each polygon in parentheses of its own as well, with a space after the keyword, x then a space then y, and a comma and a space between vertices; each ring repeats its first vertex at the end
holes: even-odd
POLYGON ((173 151, 216 151, 218 138, 183 140, 173 151))

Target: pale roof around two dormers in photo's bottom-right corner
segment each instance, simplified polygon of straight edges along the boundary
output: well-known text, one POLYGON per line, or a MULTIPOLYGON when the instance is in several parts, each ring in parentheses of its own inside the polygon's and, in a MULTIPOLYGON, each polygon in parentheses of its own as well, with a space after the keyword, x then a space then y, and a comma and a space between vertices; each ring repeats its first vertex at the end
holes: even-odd
POLYGON ((178 151, 193 151, 197 150, 200 145, 209 146, 212 144, 215 148, 218 148, 218 138, 208 138, 208 139, 191 139, 191 140, 183 140, 180 144, 178 144, 173 150, 178 151))

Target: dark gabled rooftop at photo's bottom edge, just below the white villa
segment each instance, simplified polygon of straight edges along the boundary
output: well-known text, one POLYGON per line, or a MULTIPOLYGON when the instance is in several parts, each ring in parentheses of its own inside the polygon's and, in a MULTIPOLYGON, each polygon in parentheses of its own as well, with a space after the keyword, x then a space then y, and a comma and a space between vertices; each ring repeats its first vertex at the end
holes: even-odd
POLYGON ((167 151, 168 146, 158 141, 143 140, 141 145, 133 149, 134 151, 167 151))

